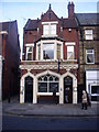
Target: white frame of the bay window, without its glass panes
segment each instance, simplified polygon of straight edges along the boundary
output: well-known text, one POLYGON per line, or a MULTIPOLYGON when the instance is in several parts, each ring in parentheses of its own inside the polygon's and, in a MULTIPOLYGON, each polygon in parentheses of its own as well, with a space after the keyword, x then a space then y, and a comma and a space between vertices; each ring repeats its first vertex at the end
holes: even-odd
POLYGON ((36 43, 36 59, 38 61, 38 45, 41 44, 41 59, 40 61, 57 61, 57 44, 61 44, 61 59, 63 59, 63 42, 56 40, 40 41, 36 43), (54 44, 54 59, 43 59, 43 44, 54 44))

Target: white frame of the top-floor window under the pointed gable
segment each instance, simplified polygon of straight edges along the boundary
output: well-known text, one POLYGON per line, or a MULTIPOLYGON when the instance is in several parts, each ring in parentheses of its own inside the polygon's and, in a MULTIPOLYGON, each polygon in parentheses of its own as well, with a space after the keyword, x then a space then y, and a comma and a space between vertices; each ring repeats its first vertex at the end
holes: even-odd
POLYGON ((42 22, 43 25, 43 37, 47 37, 47 36, 57 36, 57 21, 52 21, 52 22, 42 22), (48 26, 47 33, 45 33, 45 26, 48 26), (55 33, 52 32, 52 25, 55 25, 55 33))

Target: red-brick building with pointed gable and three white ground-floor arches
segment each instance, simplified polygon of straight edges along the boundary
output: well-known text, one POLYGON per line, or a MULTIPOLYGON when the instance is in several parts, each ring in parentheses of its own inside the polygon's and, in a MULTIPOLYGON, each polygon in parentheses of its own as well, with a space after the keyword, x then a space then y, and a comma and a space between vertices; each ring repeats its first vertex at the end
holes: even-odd
POLYGON ((75 6, 68 3, 68 18, 58 18, 50 4, 41 19, 26 22, 23 33, 20 103, 77 103, 78 30, 75 6))

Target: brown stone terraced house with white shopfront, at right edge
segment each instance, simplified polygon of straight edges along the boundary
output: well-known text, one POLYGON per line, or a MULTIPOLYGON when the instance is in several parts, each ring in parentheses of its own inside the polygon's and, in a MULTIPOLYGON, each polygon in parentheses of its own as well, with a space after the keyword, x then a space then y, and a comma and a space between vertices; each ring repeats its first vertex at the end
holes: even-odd
POLYGON ((79 25, 79 100, 82 89, 99 102, 99 13, 76 13, 79 25))

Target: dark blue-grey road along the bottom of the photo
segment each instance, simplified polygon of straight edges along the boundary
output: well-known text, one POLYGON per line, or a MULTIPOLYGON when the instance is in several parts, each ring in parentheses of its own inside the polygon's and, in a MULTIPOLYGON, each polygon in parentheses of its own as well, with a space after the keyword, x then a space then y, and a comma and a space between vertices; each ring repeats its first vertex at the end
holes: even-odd
POLYGON ((3 130, 97 130, 96 117, 2 117, 3 130))

